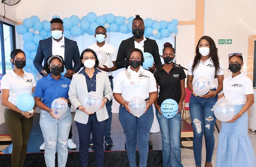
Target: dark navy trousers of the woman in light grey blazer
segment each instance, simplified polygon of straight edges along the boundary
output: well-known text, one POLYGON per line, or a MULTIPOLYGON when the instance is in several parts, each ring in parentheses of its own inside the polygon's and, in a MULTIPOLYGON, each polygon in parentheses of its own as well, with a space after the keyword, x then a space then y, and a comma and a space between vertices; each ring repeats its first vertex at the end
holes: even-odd
MULTIPOLYGON (((81 111, 78 111, 81 112, 81 111)), ((76 122, 79 135, 79 157, 80 166, 88 166, 90 134, 92 133, 93 147, 95 150, 95 161, 97 167, 104 166, 104 132, 107 120, 99 122, 95 114, 89 115, 88 123, 76 122)))

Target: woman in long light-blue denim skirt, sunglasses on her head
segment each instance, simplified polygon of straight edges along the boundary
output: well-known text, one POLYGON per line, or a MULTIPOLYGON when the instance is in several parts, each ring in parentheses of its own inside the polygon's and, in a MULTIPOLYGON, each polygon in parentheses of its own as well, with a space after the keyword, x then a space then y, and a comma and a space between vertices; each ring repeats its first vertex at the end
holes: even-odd
POLYGON ((229 99, 235 106, 235 116, 221 123, 216 167, 255 167, 247 114, 254 103, 252 80, 240 71, 243 67, 242 53, 232 53, 228 57, 228 69, 232 75, 223 81, 223 95, 219 95, 218 99, 229 99))

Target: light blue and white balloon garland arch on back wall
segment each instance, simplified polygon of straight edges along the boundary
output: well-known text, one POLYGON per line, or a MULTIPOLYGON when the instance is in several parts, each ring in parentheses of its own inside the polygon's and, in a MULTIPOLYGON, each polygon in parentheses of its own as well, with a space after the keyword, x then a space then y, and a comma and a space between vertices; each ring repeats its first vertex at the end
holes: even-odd
MULTIPOLYGON (((52 18, 60 18, 55 15, 52 18)), ((66 38, 78 37, 87 33, 88 35, 94 35, 95 29, 98 26, 104 26, 107 32, 120 32, 128 34, 132 32, 132 20, 134 17, 129 17, 128 19, 123 16, 114 16, 113 14, 104 14, 98 16, 94 12, 89 12, 87 16, 83 16, 81 19, 72 15, 69 18, 64 18, 64 36, 66 38)), ((31 16, 26 18, 22 22, 23 24, 16 27, 18 34, 22 35, 24 41, 23 47, 27 58, 26 66, 24 70, 30 72, 37 79, 36 73, 38 72, 33 64, 33 60, 36 56, 37 47, 40 40, 51 37, 50 32, 50 22, 40 19, 37 16, 31 16), (29 68, 29 70, 28 70, 29 68)), ((161 40, 162 38, 172 37, 178 33, 178 20, 172 19, 171 21, 157 21, 147 18, 144 20, 145 31, 144 35, 146 37, 152 36, 154 39, 161 40)))

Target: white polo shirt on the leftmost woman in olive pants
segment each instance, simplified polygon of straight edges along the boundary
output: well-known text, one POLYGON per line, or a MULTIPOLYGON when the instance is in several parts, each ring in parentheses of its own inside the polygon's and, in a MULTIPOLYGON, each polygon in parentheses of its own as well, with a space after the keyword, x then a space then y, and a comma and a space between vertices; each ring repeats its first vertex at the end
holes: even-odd
POLYGON ((8 101, 16 106, 16 99, 22 93, 32 95, 32 89, 36 86, 34 75, 23 70, 23 78, 15 74, 13 69, 2 78, 1 88, 9 89, 8 101))

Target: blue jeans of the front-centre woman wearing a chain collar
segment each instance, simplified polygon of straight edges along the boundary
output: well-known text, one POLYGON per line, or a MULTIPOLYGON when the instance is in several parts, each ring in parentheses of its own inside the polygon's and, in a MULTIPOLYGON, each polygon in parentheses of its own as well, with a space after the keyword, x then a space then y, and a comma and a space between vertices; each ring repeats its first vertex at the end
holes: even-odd
POLYGON ((133 116, 125 107, 119 107, 119 120, 124 129, 126 137, 126 150, 130 167, 136 167, 136 145, 138 141, 140 166, 147 166, 149 153, 149 133, 154 119, 153 107, 149 107, 147 112, 140 118, 133 116))

